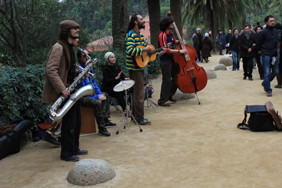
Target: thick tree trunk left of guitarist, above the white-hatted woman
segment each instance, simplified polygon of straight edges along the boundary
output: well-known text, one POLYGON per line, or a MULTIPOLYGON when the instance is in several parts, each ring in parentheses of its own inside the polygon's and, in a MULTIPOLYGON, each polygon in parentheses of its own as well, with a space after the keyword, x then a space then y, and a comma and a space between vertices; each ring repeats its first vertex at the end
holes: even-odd
POLYGON ((129 22, 127 0, 112 0, 113 48, 125 50, 125 34, 129 22))

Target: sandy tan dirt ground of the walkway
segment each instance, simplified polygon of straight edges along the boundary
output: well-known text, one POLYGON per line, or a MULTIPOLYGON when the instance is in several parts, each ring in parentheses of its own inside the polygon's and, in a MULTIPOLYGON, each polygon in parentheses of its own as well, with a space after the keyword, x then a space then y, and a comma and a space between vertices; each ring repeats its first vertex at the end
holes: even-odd
MULTIPOLYGON (((214 68, 221 56, 213 55, 200 66, 214 68)), ((254 81, 242 80, 239 71, 216 71, 197 99, 178 101, 171 107, 145 108, 152 125, 135 124, 111 137, 82 135, 81 159, 104 159, 116 177, 95 187, 281 187, 282 143, 280 132, 237 129, 245 105, 263 105, 271 100, 282 110, 282 89, 266 97, 257 69, 254 81), (281 141, 281 143, 280 143, 281 141)), ((276 80, 272 82, 272 87, 276 80)), ((157 102, 161 77, 153 81, 152 101, 157 102)), ((111 120, 121 114, 111 108, 111 120)), ((29 144, 18 154, 0 161, 0 187, 76 187, 66 180, 74 165, 59 158, 60 148, 47 142, 29 144)), ((94 186, 93 186, 94 187, 94 186)))

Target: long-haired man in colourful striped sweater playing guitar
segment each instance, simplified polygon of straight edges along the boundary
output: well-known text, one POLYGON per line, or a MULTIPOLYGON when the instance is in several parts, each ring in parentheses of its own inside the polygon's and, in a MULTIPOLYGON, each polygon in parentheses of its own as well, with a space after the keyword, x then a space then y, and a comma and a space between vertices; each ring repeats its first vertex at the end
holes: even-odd
POLYGON ((133 108, 132 114, 140 125, 151 124, 148 119, 144 119, 144 67, 134 65, 134 56, 141 56, 143 52, 150 52, 152 47, 136 48, 138 45, 146 46, 144 36, 140 29, 145 28, 145 21, 141 15, 134 14, 128 24, 126 34, 126 69, 131 80, 135 81, 133 86, 133 108))

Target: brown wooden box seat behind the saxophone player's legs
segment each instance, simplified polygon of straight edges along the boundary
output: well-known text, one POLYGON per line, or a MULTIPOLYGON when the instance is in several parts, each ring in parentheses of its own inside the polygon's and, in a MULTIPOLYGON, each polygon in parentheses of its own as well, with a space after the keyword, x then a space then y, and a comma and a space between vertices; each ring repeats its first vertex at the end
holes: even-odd
POLYGON ((98 132, 97 122, 94 116, 93 108, 80 107, 81 110, 81 129, 80 133, 98 132))

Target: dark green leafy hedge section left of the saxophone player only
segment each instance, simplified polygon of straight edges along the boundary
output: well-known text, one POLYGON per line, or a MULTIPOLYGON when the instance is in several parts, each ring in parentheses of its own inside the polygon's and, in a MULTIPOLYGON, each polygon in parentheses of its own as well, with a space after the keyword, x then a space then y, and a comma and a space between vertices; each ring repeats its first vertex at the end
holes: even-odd
POLYGON ((0 125, 15 119, 40 123, 46 118, 41 101, 44 65, 0 68, 0 125))

